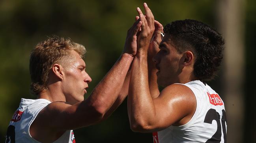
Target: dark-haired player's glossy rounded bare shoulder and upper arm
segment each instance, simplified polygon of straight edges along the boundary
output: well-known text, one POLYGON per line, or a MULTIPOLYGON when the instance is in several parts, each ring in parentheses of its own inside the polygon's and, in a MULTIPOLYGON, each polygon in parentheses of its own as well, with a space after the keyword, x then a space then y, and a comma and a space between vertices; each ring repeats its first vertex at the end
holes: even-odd
POLYGON ((192 118, 196 110, 194 93, 189 87, 182 84, 172 84, 165 87, 154 102, 161 116, 166 116, 166 118, 161 118, 163 122, 169 121, 163 127, 184 125, 192 118))

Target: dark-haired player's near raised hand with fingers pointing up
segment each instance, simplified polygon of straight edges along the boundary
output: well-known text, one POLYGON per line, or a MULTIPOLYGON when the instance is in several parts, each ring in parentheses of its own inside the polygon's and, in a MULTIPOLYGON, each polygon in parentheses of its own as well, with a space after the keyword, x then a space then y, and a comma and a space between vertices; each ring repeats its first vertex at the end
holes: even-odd
POLYGON ((138 34, 138 40, 137 40, 137 51, 148 51, 149 42, 151 40, 151 37, 153 35, 153 32, 155 31, 155 19, 153 16, 153 13, 149 9, 148 5, 144 3, 144 9, 145 9, 145 16, 140 10, 139 7, 137 7, 137 12, 139 14, 140 21, 142 22, 141 25, 141 31, 140 34, 138 34))

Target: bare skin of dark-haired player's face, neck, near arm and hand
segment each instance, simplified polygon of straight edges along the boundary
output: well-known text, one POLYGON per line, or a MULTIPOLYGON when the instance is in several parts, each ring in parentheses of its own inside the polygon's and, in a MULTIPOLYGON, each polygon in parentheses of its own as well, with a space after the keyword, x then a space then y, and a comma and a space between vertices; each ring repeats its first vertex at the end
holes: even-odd
POLYGON ((185 85, 173 83, 187 83, 194 80, 192 75, 194 56, 190 51, 179 53, 172 46, 170 36, 165 35, 161 43, 158 41, 160 50, 153 58, 157 68, 154 69, 149 65, 148 58, 151 54, 149 42, 155 31, 155 20, 145 3, 144 9, 146 17, 137 8, 142 26, 131 69, 128 114, 133 131, 154 132, 170 125, 184 125, 192 118, 196 109, 193 92, 185 85), (149 75, 153 75, 156 71, 157 81, 156 78, 149 81, 149 75), (152 84, 157 85, 156 82, 164 87, 158 95, 157 88, 150 89, 152 84))

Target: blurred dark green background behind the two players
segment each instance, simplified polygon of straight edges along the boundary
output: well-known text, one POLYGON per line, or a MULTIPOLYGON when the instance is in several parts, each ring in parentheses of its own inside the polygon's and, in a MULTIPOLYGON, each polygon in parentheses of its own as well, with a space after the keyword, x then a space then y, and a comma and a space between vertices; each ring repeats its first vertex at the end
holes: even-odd
MULTIPOLYGON (((227 86, 229 80, 225 77, 232 75, 232 71, 237 69, 228 70, 226 67, 230 64, 225 62, 225 58, 219 76, 209 82, 209 85, 220 93, 228 107, 228 142, 254 142, 255 0, 0 0, 0 141, 5 140, 7 126, 21 98, 35 98, 29 93, 28 64, 30 51, 38 42, 55 34, 70 37, 74 42, 86 47, 88 52, 85 55, 85 62, 87 72, 92 78, 88 94, 85 95, 88 97, 93 87, 120 56, 127 29, 131 27, 137 15, 136 7, 142 8, 143 2, 147 2, 155 19, 163 25, 173 20, 196 19, 211 25, 220 33, 226 33, 227 29, 222 26, 225 9, 232 9, 230 5, 234 2, 241 4, 233 10, 239 13, 234 17, 239 18, 242 25, 238 26, 241 31, 236 33, 240 35, 242 46, 232 46, 231 52, 225 52, 232 55, 236 49, 243 51, 238 52, 243 55, 242 64, 236 67, 241 73, 235 76, 241 77, 241 81, 236 82, 242 84, 235 87, 239 90, 236 99, 241 105, 238 106, 235 101, 233 103, 232 96, 226 94, 226 89, 230 87, 227 86), (222 7, 222 10, 219 7, 222 7), (237 111, 235 107, 241 110, 237 111), (232 116, 233 114, 237 116, 232 116), (232 132, 234 129, 235 132, 232 132), (235 139, 236 137, 238 139, 235 139)), ((232 42, 234 41, 230 40, 228 43, 232 42)), ((239 59, 234 57, 234 60, 239 59)), ((126 100, 106 121, 74 132, 77 143, 153 142, 151 134, 131 131, 126 100)))

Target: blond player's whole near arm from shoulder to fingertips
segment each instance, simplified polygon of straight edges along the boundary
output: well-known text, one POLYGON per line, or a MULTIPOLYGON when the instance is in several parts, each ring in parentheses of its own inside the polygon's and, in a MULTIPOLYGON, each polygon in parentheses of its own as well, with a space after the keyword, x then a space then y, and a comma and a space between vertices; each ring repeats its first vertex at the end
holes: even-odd
POLYGON ((74 105, 56 101, 39 112, 30 128, 33 138, 52 142, 65 130, 93 125, 106 119, 121 104, 127 96, 128 70, 136 54, 136 33, 140 26, 138 20, 129 29, 123 54, 88 99, 74 105))

